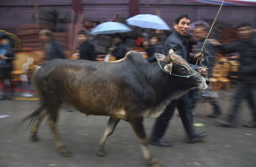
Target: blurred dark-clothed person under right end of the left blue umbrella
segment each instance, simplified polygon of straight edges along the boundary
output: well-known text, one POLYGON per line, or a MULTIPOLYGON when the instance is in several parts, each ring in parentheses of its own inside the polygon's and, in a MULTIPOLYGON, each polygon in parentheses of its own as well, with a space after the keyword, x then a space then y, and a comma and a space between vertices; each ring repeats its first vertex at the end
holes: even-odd
POLYGON ((113 36, 113 46, 109 48, 111 55, 116 57, 116 60, 123 59, 126 54, 125 43, 122 40, 120 34, 114 34, 113 36))

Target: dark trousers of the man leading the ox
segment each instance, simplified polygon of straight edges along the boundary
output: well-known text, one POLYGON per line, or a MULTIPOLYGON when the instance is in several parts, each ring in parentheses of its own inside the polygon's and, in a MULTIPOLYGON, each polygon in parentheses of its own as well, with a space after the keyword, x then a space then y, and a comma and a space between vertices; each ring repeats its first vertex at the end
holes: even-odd
POLYGON ((190 109, 188 94, 185 94, 181 98, 172 101, 166 107, 164 112, 157 118, 151 135, 152 138, 160 139, 163 137, 170 122, 169 120, 172 119, 176 107, 188 136, 191 136, 194 133, 193 115, 190 109))

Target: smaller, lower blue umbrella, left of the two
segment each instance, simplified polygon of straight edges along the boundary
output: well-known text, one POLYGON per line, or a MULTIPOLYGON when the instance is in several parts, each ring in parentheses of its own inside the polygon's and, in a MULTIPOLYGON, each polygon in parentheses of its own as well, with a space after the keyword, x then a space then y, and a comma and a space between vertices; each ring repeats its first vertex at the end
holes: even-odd
POLYGON ((132 31, 130 27, 119 22, 104 22, 97 25, 90 34, 114 34, 114 33, 126 33, 132 31))

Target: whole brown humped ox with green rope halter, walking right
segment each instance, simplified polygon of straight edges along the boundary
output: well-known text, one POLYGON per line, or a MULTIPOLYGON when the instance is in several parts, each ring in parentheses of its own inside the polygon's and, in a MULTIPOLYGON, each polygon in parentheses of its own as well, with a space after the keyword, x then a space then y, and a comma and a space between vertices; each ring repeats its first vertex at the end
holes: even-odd
POLYGON ((195 87, 205 89, 207 85, 205 78, 195 75, 196 71, 179 55, 156 54, 156 57, 159 63, 150 63, 138 52, 131 51, 116 62, 56 59, 41 64, 33 73, 33 84, 42 106, 25 119, 34 122, 31 139, 37 140, 38 126, 42 118, 49 115, 48 124, 56 147, 63 156, 70 154, 56 130, 58 108, 65 103, 86 115, 110 117, 100 140, 100 156, 104 156, 106 138, 123 119, 131 124, 140 139, 147 162, 159 166, 148 150, 143 119, 158 117, 173 99, 195 87))

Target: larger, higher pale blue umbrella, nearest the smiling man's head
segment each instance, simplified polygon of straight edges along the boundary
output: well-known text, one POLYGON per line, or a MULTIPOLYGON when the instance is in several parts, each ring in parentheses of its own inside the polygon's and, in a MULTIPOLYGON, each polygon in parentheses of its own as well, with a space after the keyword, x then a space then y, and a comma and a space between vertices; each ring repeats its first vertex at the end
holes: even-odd
POLYGON ((136 15, 126 20, 127 24, 136 25, 146 29, 168 29, 171 28, 157 15, 136 15))

